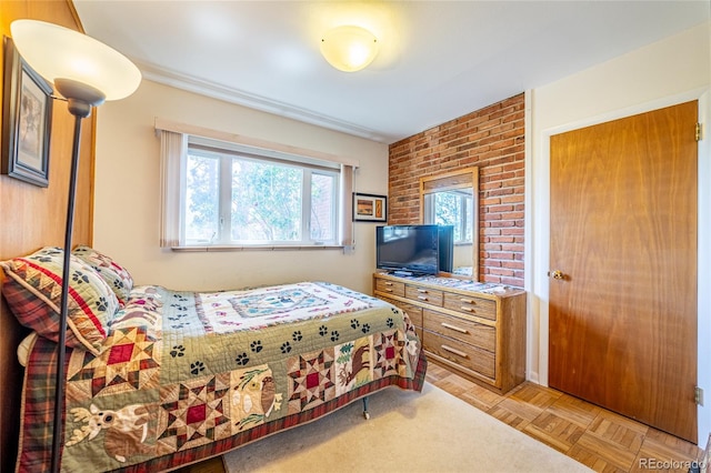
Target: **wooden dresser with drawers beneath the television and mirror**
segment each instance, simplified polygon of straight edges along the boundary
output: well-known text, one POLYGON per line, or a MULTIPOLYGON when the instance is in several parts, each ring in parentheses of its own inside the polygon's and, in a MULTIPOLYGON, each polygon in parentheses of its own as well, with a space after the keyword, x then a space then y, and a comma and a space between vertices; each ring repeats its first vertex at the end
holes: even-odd
POLYGON ((428 360, 500 394, 525 380, 523 290, 380 272, 373 289, 377 298, 408 313, 428 360))

